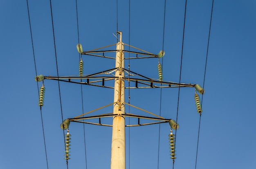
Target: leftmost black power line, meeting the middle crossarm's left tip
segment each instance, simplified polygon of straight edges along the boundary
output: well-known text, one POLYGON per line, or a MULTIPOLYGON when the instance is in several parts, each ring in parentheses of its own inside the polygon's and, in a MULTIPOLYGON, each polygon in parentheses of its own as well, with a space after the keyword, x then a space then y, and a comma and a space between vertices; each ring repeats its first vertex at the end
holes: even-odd
MULTIPOLYGON (((29 28, 30 28, 30 35, 31 35, 31 43, 32 43, 32 50, 33 50, 33 56, 34 56, 34 65, 35 65, 35 70, 36 70, 36 58, 35 58, 35 52, 34 52, 34 43, 33 43, 33 38, 32 38, 32 30, 31 30, 31 22, 30 22, 30 15, 29 15, 29 4, 27 0, 27 12, 28 12, 28 17, 29 17, 29 28)), ((37 71, 36 71, 36 77, 37 77, 37 71)), ((38 86, 38 81, 37 82, 37 90, 38 90, 38 98, 40 96, 39 94, 39 86, 38 86)), ((45 144, 45 130, 43 126, 43 115, 42 115, 42 106, 40 105, 40 114, 41 114, 41 122, 42 122, 42 129, 43 129, 43 140, 44 140, 44 145, 45 145, 45 158, 46 158, 46 165, 47 169, 48 167, 48 159, 47 159, 47 151, 46 151, 46 144, 45 144)))

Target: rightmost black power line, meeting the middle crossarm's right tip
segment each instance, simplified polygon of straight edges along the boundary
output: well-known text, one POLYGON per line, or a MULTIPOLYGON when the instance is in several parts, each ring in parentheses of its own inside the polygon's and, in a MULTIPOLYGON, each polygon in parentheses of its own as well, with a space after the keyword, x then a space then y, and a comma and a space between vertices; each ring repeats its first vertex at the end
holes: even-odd
MULTIPOLYGON (((208 35, 208 42, 207 42, 207 53, 206 53, 205 68, 204 68, 204 81, 205 81, 207 58, 208 58, 208 51, 209 51, 209 41, 210 41, 210 34, 211 34, 211 20, 212 20, 212 12, 213 12, 213 2, 214 2, 214 0, 212 1, 212 4, 211 4, 211 19, 210 19, 209 35, 208 35)), ((203 83, 203 88, 204 88, 204 83, 203 83)), ((202 107, 202 103, 203 103, 203 96, 204 96, 204 94, 202 94, 201 107, 202 107)), ((200 134, 200 123, 201 123, 201 113, 200 113, 199 127, 198 127, 198 143, 199 143, 199 134, 200 134)), ((197 148, 196 148, 195 169, 196 169, 196 164, 197 164, 197 159, 198 159, 198 143, 197 143, 197 148)))

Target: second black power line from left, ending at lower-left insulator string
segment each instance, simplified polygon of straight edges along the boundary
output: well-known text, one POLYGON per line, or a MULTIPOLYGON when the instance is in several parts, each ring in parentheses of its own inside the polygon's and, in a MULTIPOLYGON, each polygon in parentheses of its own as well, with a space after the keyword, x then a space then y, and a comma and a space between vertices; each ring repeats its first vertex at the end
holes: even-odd
MULTIPOLYGON (((51 8, 51 18, 52 18, 52 32, 53 32, 53 40, 54 40, 54 52, 55 52, 56 69, 57 69, 57 77, 58 77, 58 62, 57 62, 56 44, 55 44, 55 36, 54 36, 54 24, 53 24, 53 17, 52 17, 52 1, 51 0, 50 0, 50 8, 51 8)), ((59 92, 60 104, 61 104, 61 89, 60 89, 59 79, 58 79, 58 92, 59 92)), ((61 105, 61 119, 62 119, 62 123, 63 123, 62 105, 61 105)), ((64 129, 63 129, 63 138, 64 138, 64 145, 65 145, 64 129)), ((67 163, 67 159, 66 159, 66 163, 67 163)), ((67 165, 67 169, 68 169, 68 165, 67 165)))

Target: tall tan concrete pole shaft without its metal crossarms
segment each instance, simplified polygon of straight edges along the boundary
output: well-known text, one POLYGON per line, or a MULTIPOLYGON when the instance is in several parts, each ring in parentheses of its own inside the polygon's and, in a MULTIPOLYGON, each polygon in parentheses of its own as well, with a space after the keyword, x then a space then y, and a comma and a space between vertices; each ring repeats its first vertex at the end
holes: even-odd
POLYGON ((112 127, 112 145, 111 145, 111 162, 110 169, 125 169, 125 119, 122 114, 124 109, 124 44, 122 44, 122 32, 118 32, 120 41, 117 43, 116 53, 116 68, 114 88, 114 105, 113 114, 118 114, 113 117, 112 127))

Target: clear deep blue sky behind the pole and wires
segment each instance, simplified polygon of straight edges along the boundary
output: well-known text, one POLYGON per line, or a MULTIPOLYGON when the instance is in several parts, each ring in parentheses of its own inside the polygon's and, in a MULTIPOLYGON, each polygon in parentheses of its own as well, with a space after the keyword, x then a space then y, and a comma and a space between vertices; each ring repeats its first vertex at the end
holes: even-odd
MULTIPOLYGON (((116 43, 116 0, 78 1, 83 50, 116 43)), ((37 73, 56 76, 49 1, 29 0, 37 73)), ((129 43, 129 1, 118 1, 118 29, 129 43)), ((183 83, 203 84, 211 0, 188 0, 182 60, 183 83)), ((164 34, 164 80, 179 81, 185 0, 167 0, 164 34)), ((197 169, 255 169, 256 2, 214 0, 202 105, 197 169)), ((52 0, 60 76, 78 75, 79 54, 75 0, 52 0)), ((130 45, 157 54, 162 50, 164 0, 130 0, 130 45)), ((114 47, 115 48, 115 47, 114 47)), ((127 49, 127 48, 126 48, 127 49)), ((83 56, 84 72, 114 68, 113 60, 83 56)), ((137 59, 130 69, 157 78, 157 59, 137 59)), ((128 62, 125 63, 126 68, 128 62)), ((42 121, 26 0, 0 1, 0 169, 46 169, 42 121)), ((49 169, 66 168, 57 81, 45 80, 42 108, 49 169)), ((41 86, 42 83, 39 83, 41 86)), ((63 118, 82 114, 81 86, 60 83, 63 118)), ((195 168, 199 114, 194 89, 181 88, 175 169, 195 168)), ((112 103, 113 90, 83 86, 88 112, 112 103)), ((202 98, 202 96, 200 95, 202 98)), ((128 102, 128 91, 126 102, 128 102)), ((159 89, 130 90, 130 103, 159 114, 159 89)), ((162 90, 161 116, 176 119, 177 88, 162 90)), ((99 113, 110 113, 107 108, 99 113)), ((132 111, 133 109, 131 109, 132 111)), ((126 108, 128 112, 128 108, 126 108)), ((131 112, 131 113, 137 113, 131 112)), ((126 129, 126 168, 171 169, 167 123, 126 129), (130 143, 130 144, 129 144, 130 143), (130 145, 130 151, 128 145, 130 145), (128 153, 130 152, 130 154, 128 153), (129 163, 130 156, 130 163, 129 163)), ((85 125, 88 169, 110 168, 111 127, 85 125)), ((83 125, 70 124, 70 169, 85 169, 83 125)))

